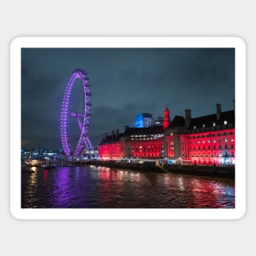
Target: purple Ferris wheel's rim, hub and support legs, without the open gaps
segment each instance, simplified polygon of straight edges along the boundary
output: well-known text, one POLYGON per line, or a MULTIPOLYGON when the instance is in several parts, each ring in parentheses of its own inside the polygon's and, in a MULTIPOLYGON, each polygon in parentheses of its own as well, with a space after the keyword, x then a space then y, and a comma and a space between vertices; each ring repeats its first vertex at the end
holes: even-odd
POLYGON ((65 88, 65 94, 61 108, 61 143, 65 155, 81 155, 83 146, 88 150, 92 148, 92 144, 88 138, 88 128, 91 116, 91 92, 90 84, 88 83, 88 75, 83 70, 74 70, 70 75, 70 79, 65 88), (81 80, 83 86, 83 113, 72 112, 70 108, 70 94, 76 79, 81 80), (76 119, 79 125, 79 137, 75 143, 74 148, 70 148, 70 137, 68 134, 69 119, 76 119))

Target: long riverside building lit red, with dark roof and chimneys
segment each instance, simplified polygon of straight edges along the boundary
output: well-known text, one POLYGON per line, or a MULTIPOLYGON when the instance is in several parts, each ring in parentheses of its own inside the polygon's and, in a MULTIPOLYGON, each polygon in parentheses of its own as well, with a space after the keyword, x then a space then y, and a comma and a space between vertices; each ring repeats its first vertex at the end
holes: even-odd
POLYGON ((164 125, 149 128, 125 127, 112 132, 98 147, 101 159, 165 159, 168 163, 222 165, 235 164, 235 110, 198 118, 185 110, 185 118, 171 121, 168 107, 164 125))

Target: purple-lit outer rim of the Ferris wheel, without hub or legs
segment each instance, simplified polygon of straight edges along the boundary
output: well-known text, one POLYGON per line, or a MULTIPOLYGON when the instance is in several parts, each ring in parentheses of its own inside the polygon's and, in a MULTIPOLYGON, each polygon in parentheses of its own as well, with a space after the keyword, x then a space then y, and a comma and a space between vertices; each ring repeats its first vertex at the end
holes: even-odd
MULTIPOLYGON (((67 128, 66 121, 69 115, 68 106, 70 104, 70 93, 74 86, 74 81, 79 79, 83 85, 83 122, 80 128, 79 141, 76 143, 74 153, 72 155, 80 155, 83 150, 83 139, 88 136, 88 127, 90 124, 90 116, 91 116, 91 92, 90 92, 90 84, 88 83, 88 75, 84 70, 76 69, 70 75, 70 79, 65 87, 65 93, 62 101, 61 107, 61 143, 63 150, 65 151, 65 155, 70 156, 71 150, 68 144, 67 137, 67 128)), ((70 113, 71 114, 71 113, 70 113)))

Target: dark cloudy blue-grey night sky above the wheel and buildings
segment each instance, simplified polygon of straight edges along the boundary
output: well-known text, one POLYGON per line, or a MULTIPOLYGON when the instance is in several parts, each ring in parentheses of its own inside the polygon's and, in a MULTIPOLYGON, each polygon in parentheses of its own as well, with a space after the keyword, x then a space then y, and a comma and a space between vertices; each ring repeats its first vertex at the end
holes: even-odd
MULTIPOLYGON (((233 109, 232 48, 23 48, 21 51, 21 146, 61 149, 61 104, 77 68, 89 77, 92 117, 88 135, 97 147, 105 132, 134 127, 136 115, 192 118, 233 109)), ((81 96, 79 80, 74 92, 81 96)), ((73 105, 81 100, 70 102, 73 105)))

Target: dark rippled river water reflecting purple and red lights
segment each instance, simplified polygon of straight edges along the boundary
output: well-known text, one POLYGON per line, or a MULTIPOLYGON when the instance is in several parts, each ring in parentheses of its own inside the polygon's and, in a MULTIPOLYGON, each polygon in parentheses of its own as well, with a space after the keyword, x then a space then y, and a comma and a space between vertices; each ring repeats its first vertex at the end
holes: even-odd
POLYGON ((235 208, 230 179, 94 166, 25 170, 21 208, 235 208))

